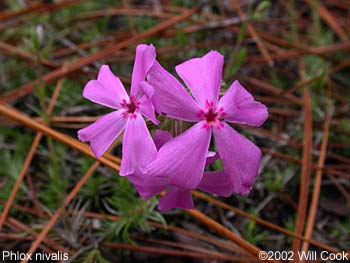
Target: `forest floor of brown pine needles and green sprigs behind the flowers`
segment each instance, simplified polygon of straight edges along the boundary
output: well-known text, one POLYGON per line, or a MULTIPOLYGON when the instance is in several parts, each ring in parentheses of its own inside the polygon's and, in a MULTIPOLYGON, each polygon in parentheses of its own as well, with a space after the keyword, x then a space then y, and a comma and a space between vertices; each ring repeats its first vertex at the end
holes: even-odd
POLYGON ((0 261, 350 258, 349 28, 347 0, 2 1, 0 261), (263 151, 249 195, 196 191, 195 210, 160 212, 118 176, 120 139, 99 160, 78 141, 107 112, 83 98, 85 83, 108 64, 128 86, 139 43, 172 73, 217 50, 223 89, 237 79, 268 106, 263 126, 234 126, 263 151))

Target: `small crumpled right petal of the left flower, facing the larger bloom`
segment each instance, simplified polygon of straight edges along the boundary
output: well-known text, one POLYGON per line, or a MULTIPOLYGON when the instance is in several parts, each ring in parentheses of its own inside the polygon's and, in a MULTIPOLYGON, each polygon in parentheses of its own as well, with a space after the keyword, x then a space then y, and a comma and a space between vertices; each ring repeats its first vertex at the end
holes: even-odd
POLYGON ((154 94, 154 88, 149 85, 146 81, 142 81, 140 84, 140 89, 142 90, 143 95, 139 99, 140 102, 140 113, 151 120, 155 125, 159 124, 159 121, 156 118, 154 113, 154 106, 152 103, 152 96, 154 94))

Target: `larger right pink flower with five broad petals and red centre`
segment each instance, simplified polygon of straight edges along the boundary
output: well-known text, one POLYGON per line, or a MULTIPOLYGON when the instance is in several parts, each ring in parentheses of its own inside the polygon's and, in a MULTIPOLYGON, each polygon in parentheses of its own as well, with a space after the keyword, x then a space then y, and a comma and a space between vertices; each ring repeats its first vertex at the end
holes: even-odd
MULTIPOLYGON (((176 67, 193 97, 158 62, 154 63, 147 83, 143 84, 154 87, 152 101, 158 113, 195 122, 190 129, 165 143, 155 160, 146 167, 149 175, 164 177, 168 184, 178 187, 172 191, 199 186, 212 133, 223 163, 224 177, 234 192, 247 194, 258 174, 260 149, 227 122, 260 126, 267 119, 267 108, 255 101, 238 81, 218 99, 223 63, 223 56, 211 51, 176 67)), ((192 206, 189 198, 186 206, 192 206)))

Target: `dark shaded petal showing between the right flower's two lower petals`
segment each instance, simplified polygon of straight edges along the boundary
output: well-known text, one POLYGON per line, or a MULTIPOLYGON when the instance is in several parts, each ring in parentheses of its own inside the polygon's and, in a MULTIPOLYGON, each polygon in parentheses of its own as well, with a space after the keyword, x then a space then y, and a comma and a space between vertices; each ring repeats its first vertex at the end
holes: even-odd
POLYGON ((205 172, 198 188, 224 197, 228 197, 233 193, 233 187, 223 171, 205 172))

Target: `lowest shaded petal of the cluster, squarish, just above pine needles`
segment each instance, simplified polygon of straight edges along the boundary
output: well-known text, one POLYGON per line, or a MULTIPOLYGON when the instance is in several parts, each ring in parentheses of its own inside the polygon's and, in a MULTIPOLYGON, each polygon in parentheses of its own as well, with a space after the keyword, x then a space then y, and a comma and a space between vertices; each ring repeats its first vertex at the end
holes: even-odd
POLYGON ((162 211, 173 208, 194 209, 191 190, 170 187, 166 194, 159 199, 158 208, 162 211))

